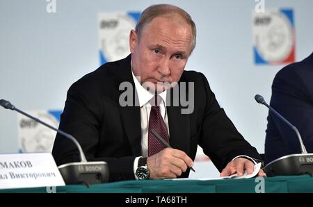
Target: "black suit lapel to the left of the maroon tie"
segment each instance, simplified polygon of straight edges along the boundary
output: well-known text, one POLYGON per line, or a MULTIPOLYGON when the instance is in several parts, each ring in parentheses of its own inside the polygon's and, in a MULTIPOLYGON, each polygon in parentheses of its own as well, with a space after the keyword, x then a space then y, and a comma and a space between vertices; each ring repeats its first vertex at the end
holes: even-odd
POLYGON ((133 105, 122 107, 119 105, 120 114, 122 117, 122 124, 124 126, 127 138, 131 145, 131 150, 134 156, 141 156, 141 111, 140 107, 135 103, 138 103, 138 95, 135 89, 135 83, 131 75, 131 55, 129 55, 125 60, 122 60, 120 67, 118 68, 118 76, 120 77, 119 84, 117 85, 117 90, 119 96, 125 92, 119 90, 119 85, 122 82, 131 83, 132 94, 133 94, 133 105))

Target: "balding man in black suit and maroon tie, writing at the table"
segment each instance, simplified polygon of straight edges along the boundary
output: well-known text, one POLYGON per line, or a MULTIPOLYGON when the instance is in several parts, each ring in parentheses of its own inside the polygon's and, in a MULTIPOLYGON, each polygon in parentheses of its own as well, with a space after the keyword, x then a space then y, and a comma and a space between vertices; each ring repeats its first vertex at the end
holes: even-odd
MULTIPOLYGON (((195 47, 188 13, 150 6, 129 45, 131 55, 102 65, 67 92, 60 129, 77 138, 87 159, 106 161, 111 181, 187 177, 200 144, 222 176, 252 173, 259 154, 218 106, 205 76, 184 71, 195 47)), ((58 165, 79 159, 59 134, 53 155, 58 165)))

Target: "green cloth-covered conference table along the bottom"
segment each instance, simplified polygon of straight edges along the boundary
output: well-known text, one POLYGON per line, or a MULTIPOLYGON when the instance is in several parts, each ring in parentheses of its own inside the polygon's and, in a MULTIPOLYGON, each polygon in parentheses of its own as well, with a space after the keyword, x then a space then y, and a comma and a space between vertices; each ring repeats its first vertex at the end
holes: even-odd
MULTIPOLYGON (((0 190, 0 193, 47 193, 47 188, 0 190)), ((56 193, 255 193, 255 192, 313 192, 309 175, 275 176, 252 179, 215 180, 147 180, 118 181, 95 185, 66 185, 55 188, 56 193)))

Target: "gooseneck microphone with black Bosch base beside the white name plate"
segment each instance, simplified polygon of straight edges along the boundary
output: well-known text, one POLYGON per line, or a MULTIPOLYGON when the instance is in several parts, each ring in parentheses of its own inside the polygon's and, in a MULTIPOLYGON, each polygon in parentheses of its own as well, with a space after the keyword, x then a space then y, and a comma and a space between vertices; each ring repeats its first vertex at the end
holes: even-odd
POLYGON ((74 142, 77 149, 79 150, 79 158, 81 161, 77 163, 67 163, 58 166, 58 170, 61 172, 61 175, 63 176, 66 184, 84 183, 86 185, 89 185, 95 183, 106 183, 109 181, 109 167, 107 163, 104 161, 88 162, 86 160, 85 154, 83 154, 83 149, 81 149, 81 145, 72 135, 56 129, 54 128, 54 126, 42 122, 40 119, 33 117, 22 110, 19 110, 9 101, 1 99, 0 106, 3 106, 3 108, 6 109, 15 110, 18 113, 21 113, 22 115, 35 120, 35 122, 39 122, 40 124, 47 126, 49 129, 60 133, 61 135, 65 136, 65 138, 68 138, 72 142, 74 142))

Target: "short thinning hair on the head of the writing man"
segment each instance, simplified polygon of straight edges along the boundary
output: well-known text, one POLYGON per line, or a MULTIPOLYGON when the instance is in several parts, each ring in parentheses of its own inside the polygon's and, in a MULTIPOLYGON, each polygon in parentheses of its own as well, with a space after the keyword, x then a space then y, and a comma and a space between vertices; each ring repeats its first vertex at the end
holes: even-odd
POLYGON ((170 5, 170 4, 152 5, 143 11, 143 13, 141 14, 141 17, 139 18, 138 23, 136 24, 136 33, 138 35, 138 40, 140 40, 141 38, 141 34, 143 33, 143 28, 147 24, 152 22, 154 18, 163 16, 163 15, 170 15, 170 14, 176 14, 176 15, 181 16, 191 26, 193 39, 191 41, 190 53, 192 53, 193 49, 195 49, 195 42, 196 42, 196 37, 197 37, 197 29, 195 27, 195 22, 193 22, 193 19, 191 19, 191 16, 185 10, 177 6, 170 5))

